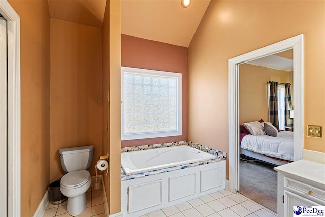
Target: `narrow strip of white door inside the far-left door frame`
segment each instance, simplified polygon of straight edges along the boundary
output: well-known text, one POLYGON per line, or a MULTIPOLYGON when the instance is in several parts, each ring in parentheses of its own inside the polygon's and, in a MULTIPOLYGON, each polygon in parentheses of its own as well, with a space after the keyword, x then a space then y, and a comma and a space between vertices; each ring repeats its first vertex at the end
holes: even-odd
POLYGON ((8 212, 7 20, 0 15, 0 216, 8 212))

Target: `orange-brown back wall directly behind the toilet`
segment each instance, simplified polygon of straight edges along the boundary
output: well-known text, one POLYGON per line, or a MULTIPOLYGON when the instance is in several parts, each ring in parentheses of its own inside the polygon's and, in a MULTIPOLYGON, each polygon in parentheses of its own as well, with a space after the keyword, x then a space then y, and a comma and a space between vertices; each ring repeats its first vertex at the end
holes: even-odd
POLYGON ((102 29, 51 19, 50 181, 60 179, 60 148, 94 145, 102 154, 102 29))

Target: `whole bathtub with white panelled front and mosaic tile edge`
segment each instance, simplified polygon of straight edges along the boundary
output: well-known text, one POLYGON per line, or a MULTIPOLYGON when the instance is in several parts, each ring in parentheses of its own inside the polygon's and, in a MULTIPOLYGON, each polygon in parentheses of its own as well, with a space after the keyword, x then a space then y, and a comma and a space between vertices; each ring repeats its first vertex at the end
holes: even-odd
POLYGON ((139 217, 225 188, 226 161, 187 145, 124 152, 121 166, 130 178, 121 180, 124 217, 139 217))

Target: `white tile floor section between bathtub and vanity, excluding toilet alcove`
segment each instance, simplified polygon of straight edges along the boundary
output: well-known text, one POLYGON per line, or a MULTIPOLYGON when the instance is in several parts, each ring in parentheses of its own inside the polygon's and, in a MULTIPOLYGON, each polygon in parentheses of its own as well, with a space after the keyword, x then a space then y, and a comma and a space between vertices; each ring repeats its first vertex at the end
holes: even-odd
POLYGON ((212 193, 189 200, 165 209, 161 209, 141 217, 276 217, 267 208, 249 200, 245 196, 233 194, 227 190, 212 193))

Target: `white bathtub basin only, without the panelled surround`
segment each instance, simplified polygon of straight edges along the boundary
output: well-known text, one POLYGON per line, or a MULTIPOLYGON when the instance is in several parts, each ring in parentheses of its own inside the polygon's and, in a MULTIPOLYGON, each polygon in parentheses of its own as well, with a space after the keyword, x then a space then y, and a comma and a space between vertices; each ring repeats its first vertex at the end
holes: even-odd
POLYGON ((121 153, 121 165, 125 175, 133 175, 215 158, 196 148, 179 145, 121 153))

